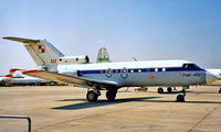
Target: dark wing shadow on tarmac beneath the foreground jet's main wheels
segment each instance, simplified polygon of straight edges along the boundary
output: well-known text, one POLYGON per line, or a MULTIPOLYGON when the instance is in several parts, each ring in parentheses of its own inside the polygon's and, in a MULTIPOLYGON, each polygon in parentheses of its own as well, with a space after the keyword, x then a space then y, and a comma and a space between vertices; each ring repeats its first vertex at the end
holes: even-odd
POLYGON ((52 109, 55 109, 55 110, 78 110, 78 109, 95 108, 95 107, 109 106, 109 105, 118 105, 118 103, 124 103, 124 102, 129 102, 129 101, 144 101, 146 99, 155 99, 155 98, 160 98, 160 97, 127 98, 127 99, 116 99, 114 101, 98 100, 96 102, 87 102, 85 99, 64 99, 64 100, 59 100, 59 101, 84 100, 86 102, 62 106, 62 107, 55 107, 55 108, 52 108, 52 109))

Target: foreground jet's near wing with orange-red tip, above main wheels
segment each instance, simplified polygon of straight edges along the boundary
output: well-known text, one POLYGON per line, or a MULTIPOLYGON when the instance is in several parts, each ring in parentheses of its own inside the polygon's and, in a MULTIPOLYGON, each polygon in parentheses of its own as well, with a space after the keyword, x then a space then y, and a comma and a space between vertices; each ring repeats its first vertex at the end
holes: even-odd
POLYGON ((52 72, 45 70, 25 70, 23 72, 24 75, 45 79, 45 80, 53 80, 53 81, 61 81, 65 84, 71 84, 78 87, 92 88, 94 85, 98 85, 101 88, 110 88, 117 87, 117 82, 114 81, 106 81, 106 80, 94 80, 90 78, 83 77, 73 77, 69 75, 62 75, 52 72))

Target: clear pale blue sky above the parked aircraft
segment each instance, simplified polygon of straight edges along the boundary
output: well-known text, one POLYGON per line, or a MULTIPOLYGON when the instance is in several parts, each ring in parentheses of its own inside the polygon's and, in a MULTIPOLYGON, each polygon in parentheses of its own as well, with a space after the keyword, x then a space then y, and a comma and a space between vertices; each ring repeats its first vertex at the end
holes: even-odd
MULTIPOLYGON (((221 0, 0 0, 0 37, 46 38, 64 55, 113 62, 187 59, 221 68, 221 0)), ((22 43, 0 38, 0 75, 35 69, 22 43)))

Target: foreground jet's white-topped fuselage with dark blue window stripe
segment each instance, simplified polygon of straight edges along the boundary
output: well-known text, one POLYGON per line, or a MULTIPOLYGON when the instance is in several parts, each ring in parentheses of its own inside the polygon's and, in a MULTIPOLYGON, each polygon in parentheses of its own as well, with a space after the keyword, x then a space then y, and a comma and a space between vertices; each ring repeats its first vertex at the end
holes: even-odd
POLYGON ((207 72, 200 67, 183 67, 187 61, 149 61, 105 64, 57 65, 60 74, 113 81, 118 87, 206 85, 207 72), (80 75, 78 75, 80 76, 80 75))

